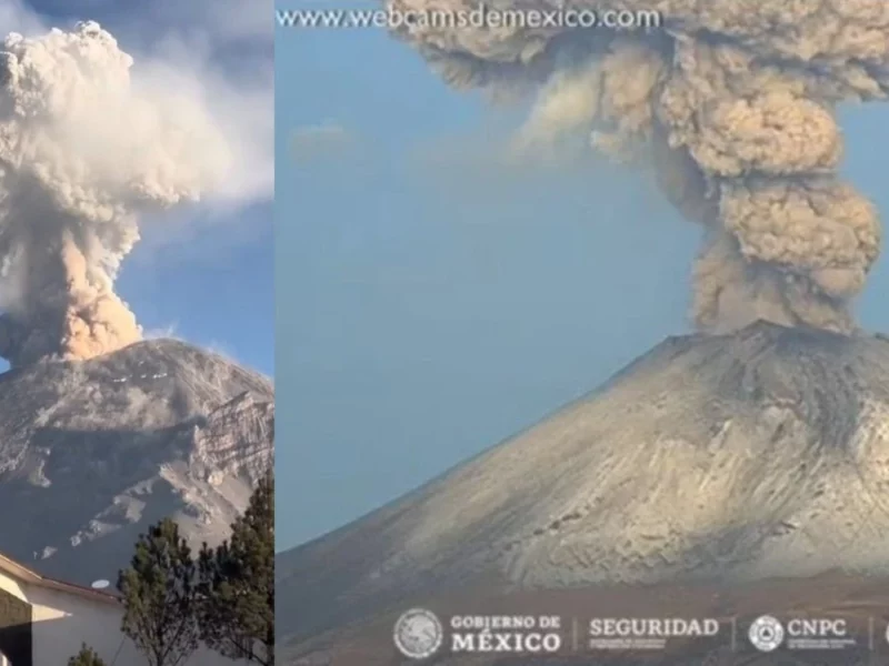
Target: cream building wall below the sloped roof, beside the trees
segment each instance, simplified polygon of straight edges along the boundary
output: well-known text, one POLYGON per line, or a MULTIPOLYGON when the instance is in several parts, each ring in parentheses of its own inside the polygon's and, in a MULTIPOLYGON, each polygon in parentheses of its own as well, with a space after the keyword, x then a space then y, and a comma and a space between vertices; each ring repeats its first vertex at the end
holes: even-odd
MULTIPOLYGON (((83 643, 99 653, 109 666, 148 665, 144 656, 120 632, 121 606, 46 587, 28 586, 24 592, 33 609, 33 666, 67 664, 83 643)), ((238 663, 199 649, 186 664, 234 666, 238 663)))

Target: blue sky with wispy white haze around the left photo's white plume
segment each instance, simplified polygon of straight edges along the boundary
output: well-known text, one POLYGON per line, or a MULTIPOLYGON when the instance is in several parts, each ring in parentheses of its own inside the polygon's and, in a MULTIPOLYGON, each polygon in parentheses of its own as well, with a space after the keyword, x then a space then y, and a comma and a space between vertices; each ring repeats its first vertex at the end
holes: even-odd
POLYGON ((241 190, 231 191, 223 205, 144 220, 143 240, 126 260, 117 291, 148 333, 170 331, 271 375, 272 34, 261 3, 249 4, 1 0, 0 29, 29 33, 38 24, 68 28, 78 20, 97 20, 133 56, 136 68, 160 60, 193 74, 220 114, 228 114, 227 122, 247 128, 237 132, 247 174, 241 190), (232 98, 243 103, 226 110, 232 98))

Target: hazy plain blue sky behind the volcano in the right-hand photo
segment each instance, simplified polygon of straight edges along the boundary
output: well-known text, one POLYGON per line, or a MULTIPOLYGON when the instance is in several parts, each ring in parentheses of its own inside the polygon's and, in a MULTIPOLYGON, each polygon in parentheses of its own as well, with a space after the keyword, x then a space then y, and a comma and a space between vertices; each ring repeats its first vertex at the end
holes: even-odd
MULTIPOLYGON (((276 32, 279 549, 688 331, 697 230, 611 165, 507 173, 490 155, 518 118, 380 30, 276 32)), ((843 118, 846 171, 886 214, 889 109, 843 118)), ((871 330, 888 290, 882 259, 871 330)))

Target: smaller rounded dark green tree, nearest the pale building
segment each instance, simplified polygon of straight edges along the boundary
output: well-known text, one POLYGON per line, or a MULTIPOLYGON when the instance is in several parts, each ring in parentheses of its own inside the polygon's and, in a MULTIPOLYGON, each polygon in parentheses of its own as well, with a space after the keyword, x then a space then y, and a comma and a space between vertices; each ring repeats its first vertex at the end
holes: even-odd
POLYGON ((197 566, 179 526, 166 518, 140 535, 120 572, 122 630, 151 666, 179 666, 198 647, 197 566))

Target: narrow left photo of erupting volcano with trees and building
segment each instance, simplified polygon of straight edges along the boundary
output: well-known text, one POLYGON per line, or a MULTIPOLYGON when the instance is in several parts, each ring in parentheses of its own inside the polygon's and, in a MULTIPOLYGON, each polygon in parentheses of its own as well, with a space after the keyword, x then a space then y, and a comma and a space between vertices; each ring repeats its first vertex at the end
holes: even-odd
POLYGON ((272 664, 269 11, 0 40, 0 664, 272 664))

